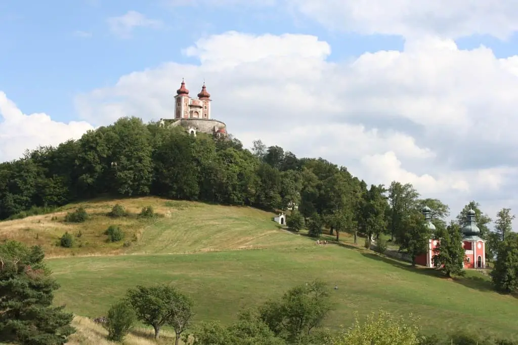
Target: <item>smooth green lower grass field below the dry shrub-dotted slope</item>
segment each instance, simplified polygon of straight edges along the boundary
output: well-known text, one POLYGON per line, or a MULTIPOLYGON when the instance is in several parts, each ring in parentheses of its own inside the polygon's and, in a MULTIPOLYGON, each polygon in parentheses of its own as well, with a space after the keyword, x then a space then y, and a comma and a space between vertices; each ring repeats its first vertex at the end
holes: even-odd
MULTIPOLYGON (((294 236, 294 235, 286 235, 294 236)), ((49 261, 62 284, 57 303, 95 317, 135 284, 172 282, 196 300, 197 320, 230 322, 242 307, 257 306, 289 287, 321 278, 333 290, 326 324, 349 326, 353 312, 382 307, 413 313, 430 332, 469 329, 514 335, 518 301, 492 292, 472 272, 452 281, 406 264, 336 245, 175 255, 77 257, 49 261)))

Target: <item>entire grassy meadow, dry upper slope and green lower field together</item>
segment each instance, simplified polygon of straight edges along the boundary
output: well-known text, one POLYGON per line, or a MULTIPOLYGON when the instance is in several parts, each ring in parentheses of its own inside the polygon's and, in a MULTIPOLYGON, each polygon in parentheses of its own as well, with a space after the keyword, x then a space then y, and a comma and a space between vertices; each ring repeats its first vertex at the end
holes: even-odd
MULTIPOLYGON (((0 240, 13 238, 45 247, 51 257, 48 264, 61 284, 56 304, 66 304, 81 317, 104 315, 136 284, 170 282, 194 298, 195 322, 228 323, 241 308, 258 306, 296 284, 320 278, 338 286, 332 291, 334 310, 325 321, 329 327, 350 326, 354 311, 366 315, 381 307, 398 315, 413 313, 427 333, 458 329, 501 337, 518 333, 518 299, 492 291, 487 276, 477 271, 468 271, 461 279, 443 279, 434 270, 413 269, 355 247, 344 234, 340 243, 316 246, 313 239, 281 229, 272 221, 274 214, 248 207, 152 197, 97 200, 82 206, 92 217, 80 224, 62 222, 67 208, 0 222, 0 240), (116 203, 135 213, 151 205, 163 217, 151 222, 111 219, 106 213, 116 203), (110 224, 120 225, 126 239, 136 237, 136 241, 130 247, 123 247, 123 241, 106 242, 103 232, 110 224), (81 231, 74 248, 55 246, 65 231, 81 231)), ((103 329, 96 330, 80 317, 75 325, 80 328, 76 343, 103 343, 84 340, 102 338, 103 329), (80 337, 84 339, 77 340, 80 337)), ((147 341, 132 337, 142 344, 147 341)))

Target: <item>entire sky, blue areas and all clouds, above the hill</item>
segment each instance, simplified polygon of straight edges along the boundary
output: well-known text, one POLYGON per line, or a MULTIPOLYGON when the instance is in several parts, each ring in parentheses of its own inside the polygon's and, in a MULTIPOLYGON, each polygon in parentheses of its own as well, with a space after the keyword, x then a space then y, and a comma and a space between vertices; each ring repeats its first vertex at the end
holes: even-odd
POLYGON ((512 0, 2 0, 0 161, 172 118, 182 78, 205 80, 245 147, 494 219, 518 210, 516 18, 512 0))

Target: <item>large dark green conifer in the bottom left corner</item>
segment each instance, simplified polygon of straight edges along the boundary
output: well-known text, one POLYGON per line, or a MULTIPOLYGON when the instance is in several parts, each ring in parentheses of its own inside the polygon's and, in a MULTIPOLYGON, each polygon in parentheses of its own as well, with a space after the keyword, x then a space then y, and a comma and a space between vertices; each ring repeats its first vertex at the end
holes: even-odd
POLYGON ((0 245, 0 343, 61 345, 75 333, 74 315, 52 305, 59 284, 44 257, 39 246, 0 245))

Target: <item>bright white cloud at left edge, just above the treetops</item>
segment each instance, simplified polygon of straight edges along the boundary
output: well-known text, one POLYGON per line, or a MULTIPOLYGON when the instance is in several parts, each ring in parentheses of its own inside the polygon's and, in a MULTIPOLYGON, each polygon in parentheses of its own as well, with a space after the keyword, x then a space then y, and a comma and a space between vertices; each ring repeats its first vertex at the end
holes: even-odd
POLYGON ((0 162, 20 157, 25 149, 59 145, 78 139, 93 127, 84 121, 56 122, 45 113, 22 113, 7 95, 0 91, 0 162))

